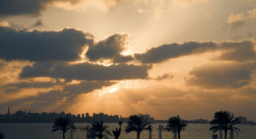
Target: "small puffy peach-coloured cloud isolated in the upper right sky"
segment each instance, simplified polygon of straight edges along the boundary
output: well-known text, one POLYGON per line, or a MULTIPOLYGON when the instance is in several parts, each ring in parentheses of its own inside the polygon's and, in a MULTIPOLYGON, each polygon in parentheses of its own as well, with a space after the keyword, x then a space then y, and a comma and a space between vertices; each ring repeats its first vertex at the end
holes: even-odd
POLYGON ((232 13, 231 16, 229 16, 228 20, 226 21, 226 24, 230 25, 233 29, 243 25, 244 24, 243 13, 238 13, 236 15, 232 13))

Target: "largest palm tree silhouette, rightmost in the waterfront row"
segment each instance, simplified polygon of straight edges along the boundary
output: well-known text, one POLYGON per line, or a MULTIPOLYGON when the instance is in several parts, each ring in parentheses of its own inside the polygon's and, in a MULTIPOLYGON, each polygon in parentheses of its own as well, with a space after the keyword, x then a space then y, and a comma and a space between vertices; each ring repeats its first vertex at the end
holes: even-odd
POLYGON ((224 130, 225 139, 228 130, 231 132, 235 131, 237 134, 238 131, 240 132, 240 129, 234 127, 235 124, 240 123, 240 119, 235 118, 234 114, 228 111, 215 112, 214 119, 210 123, 212 126, 209 130, 212 130, 213 133, 224 130))

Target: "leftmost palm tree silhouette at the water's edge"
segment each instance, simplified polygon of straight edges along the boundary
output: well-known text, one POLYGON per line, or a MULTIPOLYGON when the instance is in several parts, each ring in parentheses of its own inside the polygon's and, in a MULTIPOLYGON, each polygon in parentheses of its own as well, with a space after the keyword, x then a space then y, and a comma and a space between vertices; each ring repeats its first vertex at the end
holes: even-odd
POLYGON ((53 124, 53 130, 52 132, 56 132, 58 130, 62 131, 62 137, 63 139, 65 139, 65 133, 67 132, 67 130, 69 129, 74 129, 75 130, 75 126, 73 126, 74 123, 73 121, 71 121, 71 118, 65 116, 64 118, 57 118, 55 119, 55 122, 53 124))

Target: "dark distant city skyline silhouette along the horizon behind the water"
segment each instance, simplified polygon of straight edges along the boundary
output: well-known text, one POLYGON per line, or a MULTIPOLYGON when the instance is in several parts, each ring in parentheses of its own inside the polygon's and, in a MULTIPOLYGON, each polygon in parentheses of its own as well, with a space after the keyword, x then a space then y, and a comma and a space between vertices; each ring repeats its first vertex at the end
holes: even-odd
MULTIPOLYGON (((7 113, 4 115, 0 114, 0 123, 52 123, 56 118, 64 117, 65 115, 73 119, 74 122, 78 123, 92 123, 93 121, 104 121, 104 123, 118 123, 119 121, 127 122, 129 118, 124 118, 122 115, 107 115, 104 113, 93 113, 92 116, 89 113, 72 115, 71 113, 47 113, 47 112, 28 112, 18 110, 17 112, 10 114, 10 107, 8 106, 7 113)), ((166 123, 164 120, 155 120, 150 117, 149 114, 144 115, 150 123, 166 123)), ((242 124, 256 124, 253 121, 247 121, 243 116, 239 116, 242 124)), ((196 119, 195 121, 186 121, 187 123, 209 123, 207 120, 196 119)))

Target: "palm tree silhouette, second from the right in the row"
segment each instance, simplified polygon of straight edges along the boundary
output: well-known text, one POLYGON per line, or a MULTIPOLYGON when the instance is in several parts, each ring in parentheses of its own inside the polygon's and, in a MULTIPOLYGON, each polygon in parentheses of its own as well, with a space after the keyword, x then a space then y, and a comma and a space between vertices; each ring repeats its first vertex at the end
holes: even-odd
POLYGON ((177 115, 177 117, 169 118, 167 129, 174 134, 178 132, 178 139, 181 139, 181 131, 186 128, 186 125, 186 122, 181 120, 180 116, 177 115))

